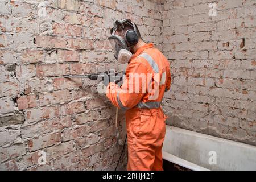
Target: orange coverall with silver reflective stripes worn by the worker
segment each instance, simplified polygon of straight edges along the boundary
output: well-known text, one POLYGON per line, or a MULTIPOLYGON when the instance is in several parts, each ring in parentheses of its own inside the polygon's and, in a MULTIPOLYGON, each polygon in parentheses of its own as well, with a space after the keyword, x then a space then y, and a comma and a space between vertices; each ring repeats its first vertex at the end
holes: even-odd
POLYGON ((131 57, 126 68, 126 79, 121 87, 113 82, 107 86, 106 96, 119 109, 126 110, 128 142, 127 170, 163 170, 162 146, 166 133, 166 115, 160 107, 163 94, 170 89, 170 64, 152 43, 140 47, 131 57), (151 74, 152 78, 137 80, 139 93, 129 93, 134 87, 134 76, 130 73, 151 74), (139 82, 138 82, 139 80, 139 82), (144 85, 151 84, 154 92, 142 92, 144 85), (126 89, 126 92, 123 90, 126 89), (158 92, 158 93, 156 93, 158 92), (156 98, 152 98, 152 94, 156 98))

